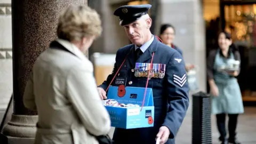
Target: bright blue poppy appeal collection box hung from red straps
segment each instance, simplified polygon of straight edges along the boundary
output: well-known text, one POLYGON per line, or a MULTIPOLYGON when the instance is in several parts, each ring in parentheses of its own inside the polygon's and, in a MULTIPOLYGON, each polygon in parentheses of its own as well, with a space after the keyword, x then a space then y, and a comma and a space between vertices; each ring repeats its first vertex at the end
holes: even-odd
POLYGON ((118 103, 137 105, 137 107, 106 106, 111 119, 111 126, 123 129, 135 129, 154 126, 154 101, 151 88, 146 89, 145 102, 141 110, 145 93, 143 87, 110 86, 108 99, 114 99, 118 103))

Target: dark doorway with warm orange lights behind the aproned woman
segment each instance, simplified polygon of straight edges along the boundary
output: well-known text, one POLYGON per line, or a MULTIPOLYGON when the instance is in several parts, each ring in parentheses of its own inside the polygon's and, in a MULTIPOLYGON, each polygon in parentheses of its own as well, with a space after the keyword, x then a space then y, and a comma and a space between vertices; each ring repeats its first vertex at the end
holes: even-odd
POLYGON ((237 79, 243 101, 256 102, 256 0, 221 0, 220 24, 231 33, 241 54, 237 79))

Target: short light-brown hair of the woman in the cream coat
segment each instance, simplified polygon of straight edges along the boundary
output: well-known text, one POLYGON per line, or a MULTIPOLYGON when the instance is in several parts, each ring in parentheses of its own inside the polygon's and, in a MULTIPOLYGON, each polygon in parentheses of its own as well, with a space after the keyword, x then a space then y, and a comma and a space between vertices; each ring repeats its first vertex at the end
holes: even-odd
POLYGON ((99 14, 86 5, 70 5, 59 17, 57 36, 67 41, 101 35, 99 14))

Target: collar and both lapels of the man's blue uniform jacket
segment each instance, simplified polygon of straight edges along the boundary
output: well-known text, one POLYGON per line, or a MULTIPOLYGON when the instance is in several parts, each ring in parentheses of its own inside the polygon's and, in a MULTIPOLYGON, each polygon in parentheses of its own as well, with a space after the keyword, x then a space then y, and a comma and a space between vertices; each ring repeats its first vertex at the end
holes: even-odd
POLYGON ((157 51, 157 46, 158 46, 159 41, 157 38, 154 36, 154 41, 150 44, 148 49, 140 56, 140 58, 136 61, 134 59, 134 54, 135 54, 135 45, 133 44, 130 53, 127 56, 127 59, 129 60, 130 64, 132 67, 135 67, 136 62, 147 62, 149 59, 152 58, 152 53, 157 51))

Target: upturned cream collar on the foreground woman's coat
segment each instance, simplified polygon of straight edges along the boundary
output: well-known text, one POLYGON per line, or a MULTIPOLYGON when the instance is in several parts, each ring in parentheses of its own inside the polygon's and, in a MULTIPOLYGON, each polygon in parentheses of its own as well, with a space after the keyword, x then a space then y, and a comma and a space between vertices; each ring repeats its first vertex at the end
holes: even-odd
POLYGON ((76 47, 74 44, 70 43, 69 41, 66 41, 60 38, 56 39, 55 41, 61 44, 62 46, 64 46, 68 51, 76 55, 79 59, 81 60, 86 59, 85 55, 78 49, 78 47, 76 47))

